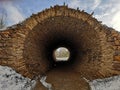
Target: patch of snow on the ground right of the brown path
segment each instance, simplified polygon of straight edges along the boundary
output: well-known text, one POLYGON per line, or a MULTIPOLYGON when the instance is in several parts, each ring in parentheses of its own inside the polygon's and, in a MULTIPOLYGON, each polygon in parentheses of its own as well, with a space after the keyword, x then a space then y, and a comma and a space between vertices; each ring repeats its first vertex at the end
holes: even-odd
POLYGON ((89 82, 91 90, 120 90, 120 76, 96 79, 89 82))

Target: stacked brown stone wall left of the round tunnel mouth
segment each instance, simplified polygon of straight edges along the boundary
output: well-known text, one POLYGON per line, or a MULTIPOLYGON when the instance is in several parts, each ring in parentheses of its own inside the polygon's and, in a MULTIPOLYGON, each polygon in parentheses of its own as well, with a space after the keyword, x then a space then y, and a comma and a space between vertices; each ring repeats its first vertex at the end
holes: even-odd
POLYGON ((26 28, 9 28, 0 32, 0 64, 27 74, 23 49, 26 28))

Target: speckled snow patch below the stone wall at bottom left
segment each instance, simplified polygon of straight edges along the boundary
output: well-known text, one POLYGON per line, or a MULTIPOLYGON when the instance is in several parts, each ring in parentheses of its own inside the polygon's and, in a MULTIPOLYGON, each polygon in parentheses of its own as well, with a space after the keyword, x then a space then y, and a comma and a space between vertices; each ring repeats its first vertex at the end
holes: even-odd
POLYGON ((31 90, 34 80, 24 78, 9 67, 0 66, 0 90, 31 90))

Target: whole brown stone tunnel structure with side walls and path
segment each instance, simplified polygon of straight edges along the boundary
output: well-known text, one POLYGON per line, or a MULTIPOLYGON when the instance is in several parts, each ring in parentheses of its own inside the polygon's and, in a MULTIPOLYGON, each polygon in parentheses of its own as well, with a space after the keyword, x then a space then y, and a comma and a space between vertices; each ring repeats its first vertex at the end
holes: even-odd
POLYGON ((0 65, 29 78, 46 75, 53 90, 89 90, 85 79, 120 74, 120 33, 83 10, 56 5, 0 31, 0 65), (69 49, 67 62, 55 62, 58 47, 69 49))

